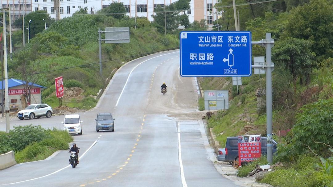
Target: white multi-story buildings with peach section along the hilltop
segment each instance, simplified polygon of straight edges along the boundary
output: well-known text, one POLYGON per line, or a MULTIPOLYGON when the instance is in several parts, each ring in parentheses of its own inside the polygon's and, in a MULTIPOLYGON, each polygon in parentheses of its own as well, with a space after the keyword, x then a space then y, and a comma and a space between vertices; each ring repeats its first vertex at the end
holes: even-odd
MULTIPOLYGON (((177 0, 1 0, 3 8, 14 5, 14 14, 20 15, 37 10, 47 11, 51 18, 56 19, 55 2, 59 1, 59 19, 72 16, 80 8, 87 7, 88 14, 96 14, 98 10, 108 7, 112 2, 122 2, 127 15, 134 17, 147 17, 153 21, 152 15, 160 5, 169 5, 177 0), (136 10, 135 10, 136 9, 136 10)), ((191 0, 190 9, 186 11, 190 22, 206 19, 210 25, 217 18, 216 10, 213 8, 217 0, 191 0)), ((182 12, 180 13, 182 14, 182 12)))

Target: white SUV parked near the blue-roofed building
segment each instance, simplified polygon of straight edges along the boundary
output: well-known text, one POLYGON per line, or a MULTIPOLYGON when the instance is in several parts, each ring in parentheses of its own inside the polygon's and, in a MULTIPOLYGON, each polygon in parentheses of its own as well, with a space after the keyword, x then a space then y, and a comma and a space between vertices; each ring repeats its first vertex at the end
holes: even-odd
POLYGON ((47 104, 32 104, 29 105, 24 110, 21 110, 17 113, 17 117, 20 120, 24 118, 34 119, 35 117, 40 118, 46 116, 47 118, 51 117, 53 113, 52 107, 47 104))

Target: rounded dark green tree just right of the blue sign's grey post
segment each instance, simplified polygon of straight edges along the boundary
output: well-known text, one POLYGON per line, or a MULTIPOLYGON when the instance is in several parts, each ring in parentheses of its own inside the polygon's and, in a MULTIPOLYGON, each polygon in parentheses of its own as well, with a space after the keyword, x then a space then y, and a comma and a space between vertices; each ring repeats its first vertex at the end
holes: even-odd
POLYGON ((278 41, 272 49, 273 61, 290 71, 293 76, 294 89, 298 77, 309 74, 312 69, 315 54, 310 51, 311 41, 286 38, 278 41))

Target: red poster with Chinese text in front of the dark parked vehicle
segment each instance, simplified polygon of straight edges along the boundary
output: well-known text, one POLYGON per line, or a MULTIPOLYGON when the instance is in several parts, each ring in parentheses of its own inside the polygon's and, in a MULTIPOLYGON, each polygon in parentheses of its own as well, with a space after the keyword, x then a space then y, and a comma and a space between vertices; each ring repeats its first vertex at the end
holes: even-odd
POLYGON ((261 156, 261 135, 238 136, 238 158, 241 162, 253 161, 261 156))

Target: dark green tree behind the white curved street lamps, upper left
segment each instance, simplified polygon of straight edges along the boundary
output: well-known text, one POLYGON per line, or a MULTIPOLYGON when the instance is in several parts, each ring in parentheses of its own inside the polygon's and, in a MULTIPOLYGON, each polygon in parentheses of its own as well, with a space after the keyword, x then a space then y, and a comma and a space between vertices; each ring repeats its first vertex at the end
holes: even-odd
MULTIPOLYGON (((22 28, 22 18, 16 19, 14 21, 14 26, 18 28, 22 28)), ((46 27, 50 27, 55 20, 50 17, 50 15, 46 11, 35 11, 33 13, 27 14, 24 18, 24 27, 28 28, 29 20, 30 22, 30 39, 34 38, 36 34, 41 33, 45 30, 45 22, 46 27)), ((26 39, 28 39, 28 32, 25 32, 26 39)))

